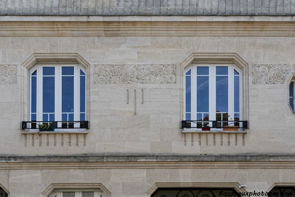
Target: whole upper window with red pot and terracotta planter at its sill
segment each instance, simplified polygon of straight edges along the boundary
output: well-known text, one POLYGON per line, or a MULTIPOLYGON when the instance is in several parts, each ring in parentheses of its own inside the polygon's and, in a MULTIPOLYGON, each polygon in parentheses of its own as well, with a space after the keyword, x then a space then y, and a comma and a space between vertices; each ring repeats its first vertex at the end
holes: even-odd
POLYGON ((191 127, 212 127, 209 121, 217 121, 217 127, 240 126, 233 121, 240 121, 242 111, 241 72, 233 63, 192 63, 186 68, 184 115, 195 120, 191 127))

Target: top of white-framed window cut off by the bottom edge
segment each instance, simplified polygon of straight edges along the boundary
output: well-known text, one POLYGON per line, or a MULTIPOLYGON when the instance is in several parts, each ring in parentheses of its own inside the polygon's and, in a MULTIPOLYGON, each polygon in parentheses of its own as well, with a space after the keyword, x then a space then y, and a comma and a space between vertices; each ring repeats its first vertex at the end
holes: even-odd
POLYGON ((100 191, 91 190, 59 190, 58 192, 53 192, 49 197, 105 197, 100 191))

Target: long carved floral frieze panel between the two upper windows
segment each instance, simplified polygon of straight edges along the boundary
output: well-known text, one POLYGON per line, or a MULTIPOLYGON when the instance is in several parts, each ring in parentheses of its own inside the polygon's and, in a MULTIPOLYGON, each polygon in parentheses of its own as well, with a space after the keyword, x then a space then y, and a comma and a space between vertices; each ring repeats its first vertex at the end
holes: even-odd
POLYGON ((94 83, 176 83, 176 65, 94 65, 94 83))

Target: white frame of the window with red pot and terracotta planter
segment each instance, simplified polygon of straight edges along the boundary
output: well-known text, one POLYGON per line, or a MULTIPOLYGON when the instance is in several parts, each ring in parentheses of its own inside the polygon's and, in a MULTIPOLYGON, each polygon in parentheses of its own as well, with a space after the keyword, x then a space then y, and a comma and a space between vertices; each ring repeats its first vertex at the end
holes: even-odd
MULTIPOLYGON (((183 77, 183 95, 184 95, 184 104, 183 104, 183 117, 184 120, 186 120, 186 72, 188 72, 189 70, 191 70, 191 120, 197 120, 196 119, 196 67, 197 66, 209 66, 209 120, 210 121, 215 121, 216 120, 216 66, 228 66, 229 67, 229 72, 228 72, 228 114, 230 115, 230 117, 234 117, 234 69, 240 73, 240 121, 242 121, 242 69, 240 69, 239 67, 237 67, 234 63, 191 63, 191 65, 189 65, 186 69, 184 69, 184 77, 183 77), (231 107, 230 107, 231 106, 231 107)), ((241 127, 242 123, 240 123, 240 127, 241 127)), ((212 127, 212 122, 209 122, 209 126, 212 127)), ((191 127, 196 127, 195 123, 191 123, 191 127)), ((196 130, 196 131, 200 131, 201 129, 199 128, 185 128, 184 130, 196 130)), ((211 130, 222 130, 222 129, 217 129, 217 128, 212 128, 211 130)), ((242 130, 242 129, 239 129, 242 130)))

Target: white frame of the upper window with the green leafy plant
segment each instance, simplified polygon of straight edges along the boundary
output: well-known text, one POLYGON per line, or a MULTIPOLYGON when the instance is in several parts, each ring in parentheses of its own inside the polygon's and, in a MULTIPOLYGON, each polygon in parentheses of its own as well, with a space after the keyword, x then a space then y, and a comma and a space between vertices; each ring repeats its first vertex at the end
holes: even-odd
MULTIPOLYGON (((43 95, 43 88, 42 88, 42 82, 43 82, 43 69, 42 67, 55 67, 55 121, 61 121, 62 119, 62 75, 61 75, 61 69, 64 66, 73 66, 74 67, 74 121, 80 120, 80 76, 85 76, 85 119, 87 114, 86 109, 86 69, 83 68, 78 63, 37 63, 35 66, 33 66, 29 70, 29 106, 28 106, 28 117, 29 120, 32 120, 31 117, 31 104, 32 104, 32 84, 31 84, 31 77, 32 73, 37 70, 37 103, 36 103, 36 119, 37 121, 42 120, 42 98, 41 96, 38 97, 38 95, 43 95), (85 75, 80 75, 80 69, 85 73, 85 75), (57 96, 58 95, 58 96, 57 96)), ((82 112, 84 113, 84 112, 82 112)), ((42 121, 40 121, 42 123, 42 121)), ((74 127, 79 127, 79 123, 75 123, 74 127)), ((31 127, 31 125, 30 125, 31 127)), ((61 127, 61 122, 58 123, 58 127, 61 127)), ((39 129, 30 129, 30 131, 38 131, 39 129)), ((72 132, 72 131, 85 131, 86 129, 55 129, 55 132, 72 132)))

